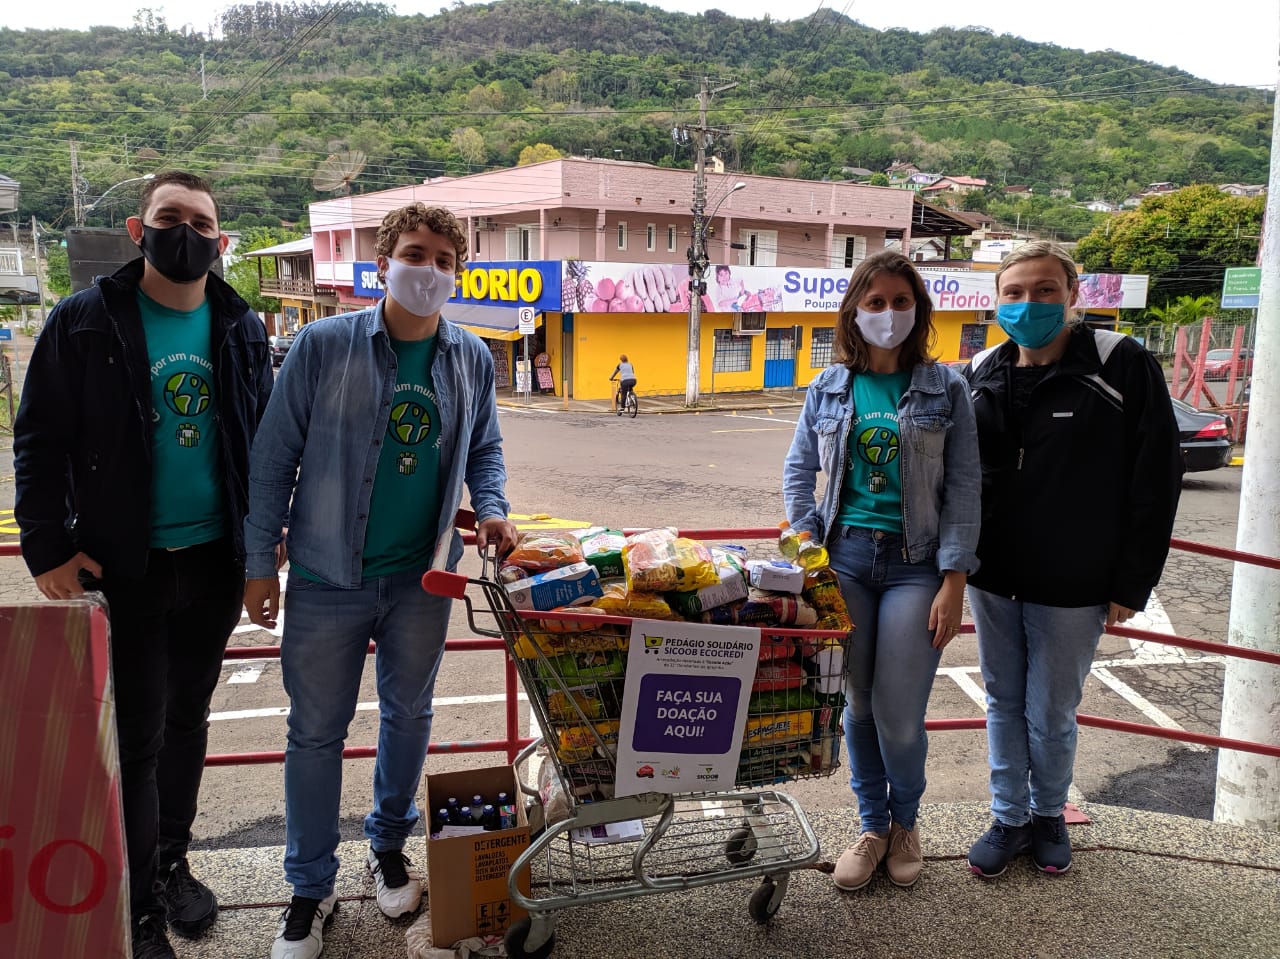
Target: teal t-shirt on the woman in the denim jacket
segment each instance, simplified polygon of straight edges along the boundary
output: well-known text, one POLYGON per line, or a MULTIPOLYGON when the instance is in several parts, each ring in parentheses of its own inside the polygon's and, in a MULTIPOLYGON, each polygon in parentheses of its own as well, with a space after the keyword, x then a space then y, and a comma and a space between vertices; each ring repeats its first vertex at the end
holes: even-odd
POLYGON ((854 423, 836 515, 842 526, 902 533, 897 403, 910 384, 910 371, 854 376, 854 423))

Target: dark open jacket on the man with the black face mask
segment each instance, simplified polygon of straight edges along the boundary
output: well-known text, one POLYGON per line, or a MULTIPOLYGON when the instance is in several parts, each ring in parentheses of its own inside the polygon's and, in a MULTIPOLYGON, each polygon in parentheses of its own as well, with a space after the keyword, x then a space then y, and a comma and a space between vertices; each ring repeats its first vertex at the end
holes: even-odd
MULTIPOLYGON (((14 421, 15 519, 33 576, 77 552, 119 576, 146 570, 151 375, 138 314, 142 259, 63 300, 27 367, 14 421)), ((210 274, 218 429, 236 553, 244 556, 248 448, 271 394, 266 329, 210 274)))

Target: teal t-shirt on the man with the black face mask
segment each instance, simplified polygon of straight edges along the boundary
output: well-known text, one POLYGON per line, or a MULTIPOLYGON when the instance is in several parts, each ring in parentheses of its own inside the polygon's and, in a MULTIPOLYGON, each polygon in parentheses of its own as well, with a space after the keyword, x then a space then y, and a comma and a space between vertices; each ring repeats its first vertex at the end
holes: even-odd
POLYGON ((151 545, 209 543, 228 531, 209 301, 170 310, 140 289, 138 311, 151 367, 151 545))

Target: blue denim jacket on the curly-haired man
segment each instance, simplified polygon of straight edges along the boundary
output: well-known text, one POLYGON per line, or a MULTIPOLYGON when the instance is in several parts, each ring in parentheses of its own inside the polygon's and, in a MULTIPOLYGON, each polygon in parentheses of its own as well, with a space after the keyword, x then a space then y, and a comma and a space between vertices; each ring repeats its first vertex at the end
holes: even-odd
MULTIPOLYGON (((397 361, 383 305, 305 325, 280 366, 250 460, 246 575, 275 576, 275 545, 325 583, 356 588, 397 361), (291 502, 292 499, 292 502, 291 502)), ((506 517, 493 357, 445 319, 431 365, 440 414, 444 496, 433 566, 453 566, 462 484, 476 521, 506 517)))

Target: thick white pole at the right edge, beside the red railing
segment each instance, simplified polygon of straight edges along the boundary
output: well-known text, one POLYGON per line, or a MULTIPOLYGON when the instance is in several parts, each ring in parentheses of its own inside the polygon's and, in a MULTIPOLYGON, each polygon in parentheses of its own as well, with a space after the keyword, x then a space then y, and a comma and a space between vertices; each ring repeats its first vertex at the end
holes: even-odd
MULTIPOLYGON (((1274 23, 1272 23, 1274 26, 1274 23)), ((1280 113, 1271 131, 1271 173, 1258 265, 1257 339, 1249 396, 1249 455, 1240 478, 1235 548, 1280 556, 1280 113)), ((1231 645, 1280 653, 1280 572, 1235 563, 1226 639, 1231 645)), ((1222 677, 1221 735, 1280 743, 1280 668, 1231 657, 1222 677)), ((1280 831, 1280 759, 1220 749, 1215 822, 1280 831)))

